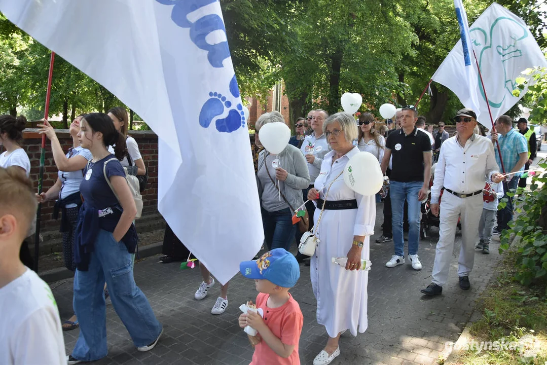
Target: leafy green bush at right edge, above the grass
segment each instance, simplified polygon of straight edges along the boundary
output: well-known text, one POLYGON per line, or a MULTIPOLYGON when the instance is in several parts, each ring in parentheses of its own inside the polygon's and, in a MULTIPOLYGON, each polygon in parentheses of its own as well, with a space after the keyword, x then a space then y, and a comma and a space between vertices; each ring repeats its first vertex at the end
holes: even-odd
MULTIPOLYGON (((547 168, 544 160, 540 161, 542 169, 547 168)), ((509 249, 510 235, 520 237, 522 244, 517 252, 515 279, 522 285, 538 284, 545 287, 547 283, 547 172, 543 175, 532 176, 530 191, 522 188, 513 195, 516 206, 516 220, 510 223, 510 229, 502 233, 500 253, 509 249), (538 188, 543 184, 542 188, 538 188), (516 194, 520 194, 517 198, 516 194)))

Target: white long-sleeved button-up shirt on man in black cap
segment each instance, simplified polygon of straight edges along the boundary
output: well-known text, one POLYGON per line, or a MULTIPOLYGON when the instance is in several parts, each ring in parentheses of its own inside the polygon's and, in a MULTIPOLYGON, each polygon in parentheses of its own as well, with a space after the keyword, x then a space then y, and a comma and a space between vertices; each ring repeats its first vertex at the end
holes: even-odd
POLYGON ((443 187, 459 194, 478 192, 496 172, 499 172, 499 167, 491 140, 474 134, 462 147, 456 136, 451 137, 441 146, 431 188, 431 202, 435 204, 439 201, 443 187))

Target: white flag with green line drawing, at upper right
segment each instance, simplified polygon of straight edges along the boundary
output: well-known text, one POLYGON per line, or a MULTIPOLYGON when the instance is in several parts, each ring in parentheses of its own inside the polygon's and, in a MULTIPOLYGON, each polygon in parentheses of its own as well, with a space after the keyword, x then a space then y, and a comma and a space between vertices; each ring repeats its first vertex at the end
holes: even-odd
MULTIPOLYGON (((455 0, 455 4, 457 2, 455 0)), ((521 72, 531 67, 545 67, 547 62, 525 22, 499 4, 490 5, 469 28, 469 34, 471 43, 468 42, 468 47, 475 50, 492 118, 496 120, 525 94, 521 92, 519 97, 513 96, 513 90, 517 88, 515 80, 522 76, 521 72)), ((476 72, 473 54, 469 55, 473 79, 471 84, 467 82, 469 67, 465 67, 462 39, 452 48, 432 79, 452 90, 466 108, 476 112, 479 123, 490 129, 492 124, 485 92, 476 72)))

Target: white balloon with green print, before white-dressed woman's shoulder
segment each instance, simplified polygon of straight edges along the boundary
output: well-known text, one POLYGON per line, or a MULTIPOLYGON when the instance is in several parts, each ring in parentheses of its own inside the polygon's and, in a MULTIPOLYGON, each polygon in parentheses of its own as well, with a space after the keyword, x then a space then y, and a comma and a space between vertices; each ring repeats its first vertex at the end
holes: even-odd
POLYGON ((370 152, 353 155, 344 167, 344 182, 358 194, 376 194, 383 185, 380 163, 370 152))

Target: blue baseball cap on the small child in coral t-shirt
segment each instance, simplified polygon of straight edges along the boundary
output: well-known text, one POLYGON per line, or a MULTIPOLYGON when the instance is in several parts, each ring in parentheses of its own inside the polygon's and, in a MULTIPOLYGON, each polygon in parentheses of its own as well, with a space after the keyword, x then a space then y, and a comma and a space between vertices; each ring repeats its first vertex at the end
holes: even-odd
POLYGON ((292 253, 274 248, 258 260, 243 261, 240 273, 248 279, 266 279, 283 288, 292 288, 300 278, 300 266, 292 253))

